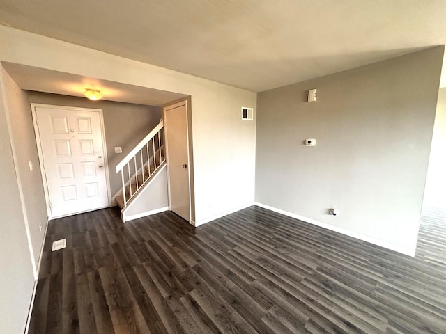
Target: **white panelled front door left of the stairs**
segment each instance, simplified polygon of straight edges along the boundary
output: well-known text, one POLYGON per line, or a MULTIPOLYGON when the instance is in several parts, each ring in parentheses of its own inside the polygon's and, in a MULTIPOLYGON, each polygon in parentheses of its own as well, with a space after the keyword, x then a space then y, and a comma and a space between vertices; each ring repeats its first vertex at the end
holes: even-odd
POLYGON ((102 114, 34 106, 52 218, 109 206, 102 114))

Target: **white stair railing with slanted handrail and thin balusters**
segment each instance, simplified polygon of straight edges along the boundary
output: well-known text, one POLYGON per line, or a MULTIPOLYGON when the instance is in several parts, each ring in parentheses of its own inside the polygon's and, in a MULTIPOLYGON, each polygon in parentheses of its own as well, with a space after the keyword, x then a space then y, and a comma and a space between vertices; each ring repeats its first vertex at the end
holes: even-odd
POLYGON ((123 182, 124 207, 136 195, 150 177, 162 166, 165 159, 162 155, 164 143, 164 122, 153 128, 153 130, 140 141, 129 154, 116 165, 116 173, 121 172, 123 182), (148 167, 146 171, 146 166, 148 167), (152 170, 153 167, 153 170, 152 170), (140 177, 138 177, 138 175, 140 177), (141 178, 141 180, 139 180, 141 178), (135 182, 134 184, 133 181, 135 182), (128 192, 126 187, 129 187, 128 192))

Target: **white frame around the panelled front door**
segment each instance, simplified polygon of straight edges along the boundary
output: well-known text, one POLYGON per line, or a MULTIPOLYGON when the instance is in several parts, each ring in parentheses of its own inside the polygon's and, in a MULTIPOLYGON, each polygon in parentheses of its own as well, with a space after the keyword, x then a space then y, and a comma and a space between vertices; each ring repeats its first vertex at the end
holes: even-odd
MULTIPOLYGON (((39 164, 40 164, 40 174, 42 175, 42 183, 43 183, 43 191, 45 193, 45 202, 47 203, 47 214, 48 218, 52 219, 54 218, 51 213, 51 208, 49 207, 49 191, 48 191, 48 184, 47 184, 47 175, 45 173, 45 167, 43 166, 43 152, 42 152, 42 143, 40 142, 40 130, 38 127, 37 122, 37 113, 36 113, 36 107, 43 107, 43 108, 50 108, 50 109, 65 109, 65 110, 79 110, 79 111, 94 111, 99 113, 100 118, 100 132, 101 132, 101 138, 102 138, 102 145, 104 147, 103 157, 104 157, 104 164, 107 167, 107 173, 105 173, 105 182, 107 183, 107 202, 109 207, 112 203, 112 196, 111 196, 111 189, 110 189, 110 179, 109 179, 109 164, 108 164, 108 158, 107 158, 107 143, 105 143, 105 131, 104 131, 104 115, 102 113, 102 109, 93 109, 93 108, 81 108, 77 106, 57 106, 54 104, 40 104, 40 103, 31 103, 31 111, 33 114, 33 125, 34 125, 34 134, 36 135, 36 144, 37 144, 37 152, 39 156, 39 164)), ((77 212, 76 214, 79 214, 80 212, 77 212)))

